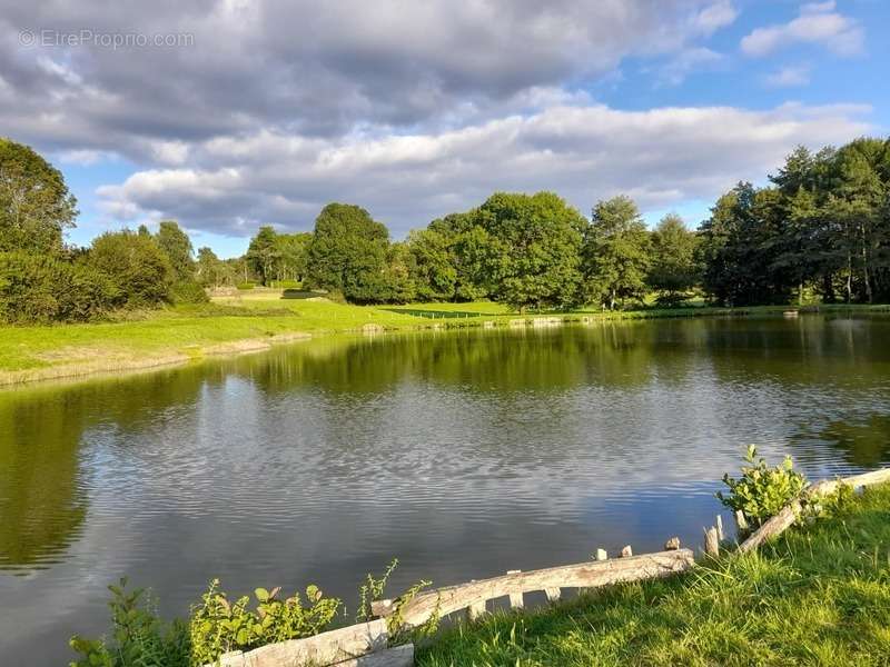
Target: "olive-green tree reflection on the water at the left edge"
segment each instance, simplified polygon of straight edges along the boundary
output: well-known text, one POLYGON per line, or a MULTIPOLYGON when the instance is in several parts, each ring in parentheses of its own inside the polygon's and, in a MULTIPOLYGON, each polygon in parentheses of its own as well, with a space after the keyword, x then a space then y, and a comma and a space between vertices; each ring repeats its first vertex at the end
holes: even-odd
POLYGON ((0 394, 0 569, 52 564, 82 530, 89 505, 81 444, 113 424, 135 431, 194 401, 198 369, 0 394))

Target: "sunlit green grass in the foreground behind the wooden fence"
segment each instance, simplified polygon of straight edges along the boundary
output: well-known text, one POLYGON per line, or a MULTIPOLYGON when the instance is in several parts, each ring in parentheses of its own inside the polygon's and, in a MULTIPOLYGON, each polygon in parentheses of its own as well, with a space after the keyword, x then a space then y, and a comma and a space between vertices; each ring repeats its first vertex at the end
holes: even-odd
POLYGON ((461 624, 417 665, 890 665, 890 485, 759 554, 461 624))

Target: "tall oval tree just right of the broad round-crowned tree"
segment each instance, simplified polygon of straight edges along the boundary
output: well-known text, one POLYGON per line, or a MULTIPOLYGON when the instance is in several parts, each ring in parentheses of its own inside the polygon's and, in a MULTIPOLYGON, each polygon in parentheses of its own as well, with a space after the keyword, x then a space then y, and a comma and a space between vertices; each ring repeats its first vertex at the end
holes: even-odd
POLYGON ((594 207, 583 253, 585 292, 591 302, 613 309, 625 299, 643 299, 650 238, 633 200, 614 197, 594 207))

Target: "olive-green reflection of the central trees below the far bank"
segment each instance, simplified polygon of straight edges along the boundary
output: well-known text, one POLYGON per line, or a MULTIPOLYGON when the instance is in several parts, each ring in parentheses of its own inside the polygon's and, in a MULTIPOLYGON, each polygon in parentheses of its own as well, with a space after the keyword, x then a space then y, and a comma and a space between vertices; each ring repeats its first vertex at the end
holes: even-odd
MULTIPOLYGON (((681 345, 689 342, 689 329, 678 335, 681 345)), ((467 391, 634 387, 649 382, 659 367, 685 369, 688 356, 672 349, 676 342, 661 346, 646 322, 446 331, 316 341, 244 359, 239 371, 267 391, 307 385, 376 394, 411 378, 467 391)))

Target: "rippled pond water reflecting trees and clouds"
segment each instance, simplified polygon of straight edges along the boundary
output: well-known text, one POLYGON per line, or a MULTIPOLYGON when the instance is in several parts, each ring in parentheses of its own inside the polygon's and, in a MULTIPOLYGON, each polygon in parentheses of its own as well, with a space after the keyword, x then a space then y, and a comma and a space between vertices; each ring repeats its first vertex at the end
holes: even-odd
POLYGON ((67 664, 125 575, 167 615, 212 577, 354 609, 393 557, 397 593, 698 546, 750 442, 890 462, 890 318, 330 338, 2 391, 0 655, 67 664))

